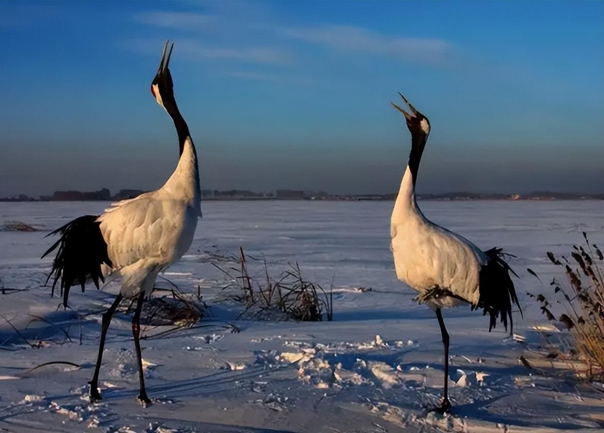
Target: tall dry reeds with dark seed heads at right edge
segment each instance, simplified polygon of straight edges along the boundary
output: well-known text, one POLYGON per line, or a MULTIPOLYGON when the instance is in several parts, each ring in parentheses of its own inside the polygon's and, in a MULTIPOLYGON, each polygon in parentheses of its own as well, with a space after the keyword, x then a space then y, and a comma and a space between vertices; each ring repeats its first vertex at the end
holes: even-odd
MULTIPOLYGON (((555 265, 564 268, 568 281, 561 283, 551 280, 556 303, 565 306, 567 313, 557 321, 570 330, 573 352, 587 364, 587 371, 577 371, 588 379, 604 378, 604 256, 596 244, 591 244, 585 232, 586 248, 573 245, 572 260, 561 256, 559 260, 547 251, 547 257, 555 265)), ((537 276, 537 274, 528 269, 537 276)), ((537 276, 538 277, 538 276, 537 276)), ((539 277, 538 277, 539 278, 539 277)), ((534 297, 541 305, 541 311, 548 320, 556 321, 551 312, 553 305, 539 294, 534 297)), ((574 365, 574 364, 573 364, 574 365)))

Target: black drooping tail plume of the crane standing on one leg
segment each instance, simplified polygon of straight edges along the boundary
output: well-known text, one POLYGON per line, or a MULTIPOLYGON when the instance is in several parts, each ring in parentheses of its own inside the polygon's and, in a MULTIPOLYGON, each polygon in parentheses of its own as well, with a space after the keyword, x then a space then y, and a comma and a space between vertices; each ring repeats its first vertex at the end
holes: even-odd
POLYGON ((507 330, 507 319, 510 319, 510 335, 514 332, 512 320, 512 303, 518 306, 520 315, 522 309, 516 297, 516 289, 510 273, 516 277, 518 275, 510 268, 510 265, 504 260, 506 256, 513 257, 511 254, 505 254, 501 248, 491 248, 484 251, 489 257, 486 265, 480 269, 480 282, 478 286, 479 299, 478 305, 474 308, 482 308, 483 314, 490 315, 489 332, 495 327, 497 317, 501 314, 501 321, 507 330))

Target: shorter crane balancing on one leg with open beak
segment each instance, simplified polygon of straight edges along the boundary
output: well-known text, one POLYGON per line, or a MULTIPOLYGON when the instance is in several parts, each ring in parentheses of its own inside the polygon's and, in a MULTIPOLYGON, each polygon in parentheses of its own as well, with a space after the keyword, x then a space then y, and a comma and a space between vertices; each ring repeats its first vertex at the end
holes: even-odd
POLYGON ((520 306, 510 273, 516 274, 504 261, 501 248, 482 251, 466 238, 429 221, 417 206, 417 169, 430 122, 400 96, 411 114, 392 105, 405 115, 411 131, 411 153, 390 219, 391 250, 398 279, 418 291, 416 299, 436 312, 445 349, 445 389, 442 405, 435 411, 448 412, 449 334, 440 310, 469 304, 490 315, 489 331, 501 315, 506 330, 509 318, 513 332, 512 302, 520 306))

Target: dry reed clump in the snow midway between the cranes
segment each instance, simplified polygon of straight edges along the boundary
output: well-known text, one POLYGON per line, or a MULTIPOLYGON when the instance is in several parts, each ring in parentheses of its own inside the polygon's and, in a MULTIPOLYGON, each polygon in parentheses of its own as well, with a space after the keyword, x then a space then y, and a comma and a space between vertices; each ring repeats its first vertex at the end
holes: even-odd
MULTIPOLYGON (((264 320, 324 321, 333 318, 333 297, 318 284, 304 280, 300 267, 289 265, 279 279, 269 276, 264 262, 262 277, 252 277, 248 271, 248 258, 239 248, 238 268, 227 270, 214 264, 233 282, 223 289, 236 288, 230 299, 245 303, 245 310, 239 315, 264 320)), ((253 259, 253 258, 252 258, 253 259)), ((254 259, 255 260, 255 259, 254 259)))

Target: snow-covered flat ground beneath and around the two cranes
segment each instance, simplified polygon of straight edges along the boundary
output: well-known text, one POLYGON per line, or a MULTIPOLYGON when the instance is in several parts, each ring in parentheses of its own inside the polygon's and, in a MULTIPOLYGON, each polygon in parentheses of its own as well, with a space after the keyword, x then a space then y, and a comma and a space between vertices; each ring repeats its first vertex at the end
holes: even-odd
MULTIPOLYGON (((556 375, 529 370, 538 358, 535 327, 551 325, 526 291, 556 276, 545 251, 568 254, 585 231, 604 244, 603 201, 426 201, 428 218, 483 248, 503 247, 524 319, 509 338, 469 308, 445 311, 451 334, 452 415, 425 415, 442 391, 442 344, 434 313, 412 302, 394 276, 388 222, 391 203, 255 201, 203 203, 204 219, 188 254, 165 277, 210 306, 204 327, 144 340, 147 409, 135 400, 138 379, 130 318, 112 321, 101 368, 103 401, 86 399, 100 334, 111 302, 89 285, 72 289, 71 310, 57 308, 43 287, 51 258, 39 259, 50 230, 108 203, 0 203, 0 227, 22 221, 38 232, 0 232, 0 432, 546 432, 602 431, 599 393, 556 375), (216 251, 239 246, 264 258, 273 273, 298 262, 324 287, 333 280, 334 320, 321 323, 236 320, 243 307, 225 300, 216 251), (208 253, 207 251, 210 251, 208 253), (361 291, 364 287, 371 290, 361 291), (8 293, 8 292, 7 292, 8 293), (233 333, 221 325, 230 321, 233 333), (16 329, 13 329, 14 328, 16 329), (379 336, 379 337, 378 337, 379 336), (524 340, 525 341, 521 341, 524 340), (27 341, 28 342, 27 342, 27 341), (35 348, 31 347, 35 346, 35 348), (45 362, 69 361, 79 365, 45 362)), ((251 264, 251 267, 257 267, 251 264)), ((169 282, 158 280, 158 286, 169 282)), ((147 335, 157 332, 147 329, 147 335)), ((551 331, 556 335, 556 331, 551 331)))

